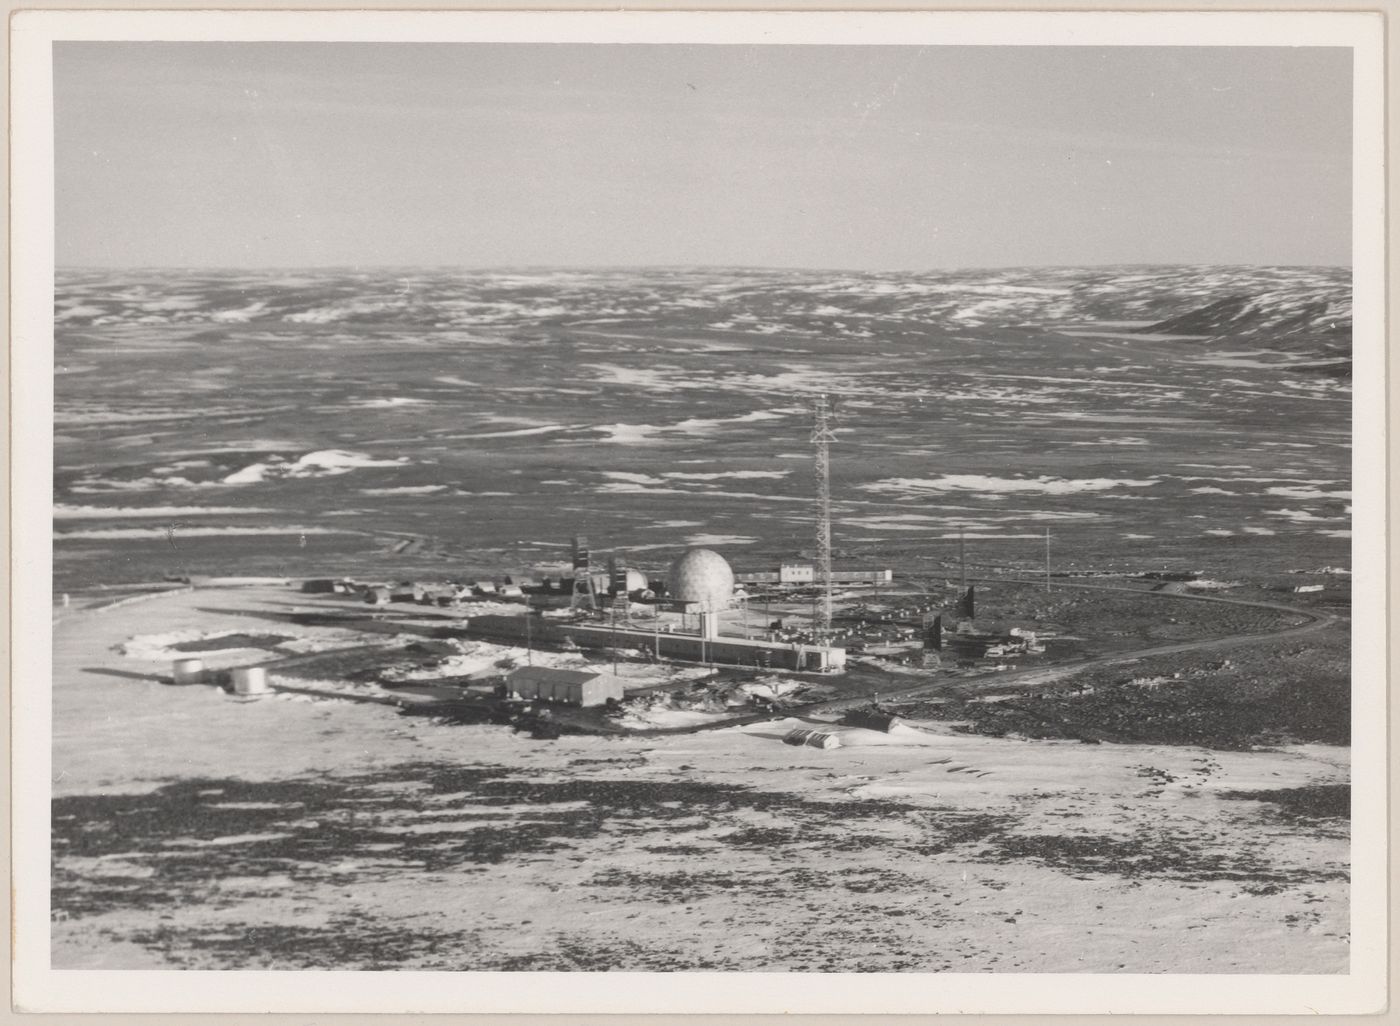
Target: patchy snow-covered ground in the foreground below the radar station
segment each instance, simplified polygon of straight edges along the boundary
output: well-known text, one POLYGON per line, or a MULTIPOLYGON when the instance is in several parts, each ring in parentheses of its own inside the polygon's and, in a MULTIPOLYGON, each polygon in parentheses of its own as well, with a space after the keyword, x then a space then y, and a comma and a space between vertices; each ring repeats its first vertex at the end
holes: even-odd
POLYGON ((1233 795, 1345 782, 1347 749, 535 742, 158 683, 172 644, 263 630, 207 605, 56 627, 56 967, 1347 970, 1344 831, 1233 795))

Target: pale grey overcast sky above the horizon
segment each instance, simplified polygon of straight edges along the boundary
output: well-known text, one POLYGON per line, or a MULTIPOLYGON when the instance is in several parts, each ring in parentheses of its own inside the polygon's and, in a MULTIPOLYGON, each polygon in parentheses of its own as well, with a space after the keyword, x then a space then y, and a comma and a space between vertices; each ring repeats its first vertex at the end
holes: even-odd
POLYGON ((55 45, 60 266, 1330 263, 1351 52, 55 45))

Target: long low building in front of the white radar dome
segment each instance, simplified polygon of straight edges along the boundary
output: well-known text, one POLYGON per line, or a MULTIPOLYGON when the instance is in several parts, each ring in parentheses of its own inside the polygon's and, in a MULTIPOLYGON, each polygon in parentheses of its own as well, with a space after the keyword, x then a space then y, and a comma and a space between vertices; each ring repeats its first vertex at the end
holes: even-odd
POLYGON ((533 638, 542 644, 574 644, 580 648, 634 648, 652 652, 658 659, 687 662, 722 662, 735 666, 763 666, 829 672, 846 668, 846 649, 788 641, 752 638, 703 638, 697 634, 671 634, 633 627, 613 628, 605 623, 553 623, 543 617, 529 621, 524 616, 473 616, 468 620, 469 634, 508 638, 525 642, 533 638))

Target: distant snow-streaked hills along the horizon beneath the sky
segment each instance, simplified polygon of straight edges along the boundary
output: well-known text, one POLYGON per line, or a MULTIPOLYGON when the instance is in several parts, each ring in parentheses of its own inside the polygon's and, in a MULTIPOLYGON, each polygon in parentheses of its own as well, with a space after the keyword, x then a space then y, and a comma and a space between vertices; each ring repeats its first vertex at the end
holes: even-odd
MULTIPOLYGON (((742 336, 1102 326, 1350 354, 1344 267, 1112 266, 938 272, 725 267, 60 270, 59 330, 116 325, 599 333, 664 318, 742 336)), ((211 339, 213 340, 213 339, 211 339)))

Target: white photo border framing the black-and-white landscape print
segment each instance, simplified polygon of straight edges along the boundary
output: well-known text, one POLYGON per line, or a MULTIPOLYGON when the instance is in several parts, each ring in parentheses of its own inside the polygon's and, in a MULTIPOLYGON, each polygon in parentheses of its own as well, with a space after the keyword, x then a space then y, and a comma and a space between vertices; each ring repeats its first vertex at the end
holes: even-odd
POLYGON ((1368 1013, 1386 1002, 1385 67, 1347 11, 18 11, 11 20, 13 998, 32 1012, 1368 1013), (49 966, 56 41, 1345 46, 1354 53, 1351 971, 97 971, 49 966))

